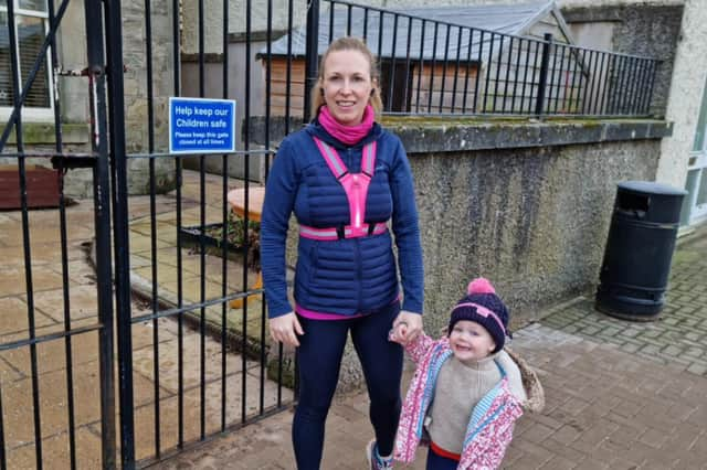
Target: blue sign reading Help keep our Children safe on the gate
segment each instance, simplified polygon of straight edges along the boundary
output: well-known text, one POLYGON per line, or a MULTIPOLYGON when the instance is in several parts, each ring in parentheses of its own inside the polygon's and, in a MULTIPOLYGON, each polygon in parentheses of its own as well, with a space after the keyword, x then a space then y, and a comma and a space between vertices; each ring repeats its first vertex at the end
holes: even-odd
POLYGON ((170 153, 235 151, 235 100, 169 98, 170 153))

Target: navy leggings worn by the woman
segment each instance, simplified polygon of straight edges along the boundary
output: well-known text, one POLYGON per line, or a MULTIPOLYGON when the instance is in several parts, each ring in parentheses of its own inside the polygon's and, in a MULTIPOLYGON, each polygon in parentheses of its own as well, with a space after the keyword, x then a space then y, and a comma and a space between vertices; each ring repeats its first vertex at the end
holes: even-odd
POLYGON ((366 377, 379 453, 392 452, 400 419, 403 353, 400 344, 388 341, 388 332, 399 311, 400 303, 394 302, 383 311, 350 320, 298 317, 305 334, 299 337, 297 348, 299 403, 292 429, 297 469, 319 469, 325 421, 349 331, 366 377))

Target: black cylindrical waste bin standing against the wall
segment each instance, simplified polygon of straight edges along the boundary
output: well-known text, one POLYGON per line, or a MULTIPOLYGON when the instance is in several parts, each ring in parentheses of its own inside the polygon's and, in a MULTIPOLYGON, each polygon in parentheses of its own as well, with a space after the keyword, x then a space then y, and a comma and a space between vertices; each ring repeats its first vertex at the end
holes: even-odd
POLYGON ((647 181, 619 183, 597 289, 597 310, 626 320, 655 320, 687 192, 647 181))

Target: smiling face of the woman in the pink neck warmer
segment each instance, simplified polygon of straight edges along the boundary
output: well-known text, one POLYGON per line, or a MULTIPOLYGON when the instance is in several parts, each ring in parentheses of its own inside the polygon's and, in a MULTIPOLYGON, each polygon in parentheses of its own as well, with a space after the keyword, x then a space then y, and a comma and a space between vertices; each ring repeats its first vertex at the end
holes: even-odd
POLYGON ((324 62, 321 89, 329 113, 339 124, 361 124, 373 89, 371 64, 356 50, 329 53, 324 62))

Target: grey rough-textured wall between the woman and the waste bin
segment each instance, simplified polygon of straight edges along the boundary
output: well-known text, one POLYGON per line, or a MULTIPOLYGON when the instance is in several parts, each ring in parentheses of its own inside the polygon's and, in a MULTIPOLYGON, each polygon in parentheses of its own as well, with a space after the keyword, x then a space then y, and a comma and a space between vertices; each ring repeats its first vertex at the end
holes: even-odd
POLYGON ((659 141, 413 154, 425 327, 489 278, 516 321, 593 288, 615 185, 653 180, 659 141))

